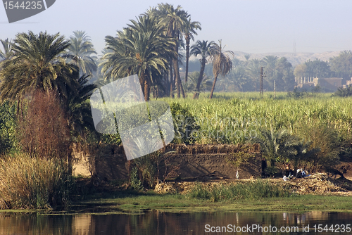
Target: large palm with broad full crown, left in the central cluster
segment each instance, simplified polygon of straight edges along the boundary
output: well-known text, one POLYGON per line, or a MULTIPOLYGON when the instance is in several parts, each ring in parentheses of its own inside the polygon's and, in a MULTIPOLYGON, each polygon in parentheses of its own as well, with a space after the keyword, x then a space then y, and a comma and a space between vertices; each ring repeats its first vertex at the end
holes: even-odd
POLYGON ((175 42, 163 36, 165 29, 153 16, 140 15, 130 21, 132 25, 118 32, 118 37, 106 37, 109 52, 102 58, 102 72, 106 78, 137 73, 144 99, 149 101, 151 85, 168 70, 168 59, 175 57, 175 42))

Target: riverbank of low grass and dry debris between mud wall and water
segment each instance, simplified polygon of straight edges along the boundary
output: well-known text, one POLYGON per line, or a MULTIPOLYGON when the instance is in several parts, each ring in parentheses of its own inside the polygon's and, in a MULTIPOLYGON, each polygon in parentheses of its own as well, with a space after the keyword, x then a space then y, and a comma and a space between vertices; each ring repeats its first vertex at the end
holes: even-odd
MULTIPOLYGON (((327 178, 325 174, 313 174, 306 179, 265 179, 260 184, 269 184, 289 189, 289 195, 256 199, 230 198, 222 196, 214 201, 211 196, 199 199, 191 196, 195 186, 205 191, 226 188, 227 185, 250 184, 256 179, 208 180, 207 182, 167 182, 156 186, 155 191, 112 190, 105 187, 73 203, 70 212, 89 213, 142 213, 149 210, 163 212, 308 212, 334 211, 352 212, 352 191, 349 179, 327 178), (157 192, 156 192, 157 191, 157 192)), ((103 187, 103 185, 101 185, 103 187)))

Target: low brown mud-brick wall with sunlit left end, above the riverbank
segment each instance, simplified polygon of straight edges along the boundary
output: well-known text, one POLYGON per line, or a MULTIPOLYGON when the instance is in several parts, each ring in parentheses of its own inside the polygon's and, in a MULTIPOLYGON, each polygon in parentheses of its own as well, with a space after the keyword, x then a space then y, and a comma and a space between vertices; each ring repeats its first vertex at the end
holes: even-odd
MULTIPOLYGON (((239 179, 260 177, 261 158, 257 144, 254 145, 184 145, 169 144, 161 149, 159 164, 159 179, 177 177, 183 180, 199 179, 213 172, 223 179, 236 179, 237 170, 239 179), (230 163, 234 154, 243 153, 249 157, 239 167, 230 163), (166 174, 165 174, 166 172, 166 174), (169 173, 172 174, 169 174, 169 173)), ((76 150, 75 174, 94 177, 106 181, 129 179, 130 165, 122 146, 101 145, 90 146, 85 150, 76 150), (89 168, 89 170, 87 170, 89 168), (85 169, 85 170, 84 170, 85 169), (85 172, 85 173, 84 173, 85 172)), ((136 159, 138 160, 138 158, 136 159)))

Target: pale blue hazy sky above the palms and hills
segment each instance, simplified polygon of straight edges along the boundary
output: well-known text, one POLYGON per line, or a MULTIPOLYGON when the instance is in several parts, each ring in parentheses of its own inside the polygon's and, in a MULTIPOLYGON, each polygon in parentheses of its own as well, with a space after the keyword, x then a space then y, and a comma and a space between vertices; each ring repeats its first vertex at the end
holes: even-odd
POLYGON ((158 3, 181 5, 203 30, 196 39, 222 39, 226 49, 247 53, 324 52, 352 49, 351 0, 56 0, 46 11, 8 23, 0 6, 0 39, 18 32, 84 30, 100 53, 106 35, 115 36, 130 19, 158 3))

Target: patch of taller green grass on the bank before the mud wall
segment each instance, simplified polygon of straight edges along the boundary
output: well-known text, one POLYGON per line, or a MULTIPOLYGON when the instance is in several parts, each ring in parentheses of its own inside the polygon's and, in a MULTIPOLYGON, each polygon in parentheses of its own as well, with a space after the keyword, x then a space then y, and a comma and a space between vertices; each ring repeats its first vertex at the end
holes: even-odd
POLYGON ((289 195, 291 195, 289 188, 284 188, 261 179, 253 182, 213 186, 211 189, 205 189, 201 184, 196 184, 188 193, 190 198, 210 199, 215 202, 287 197, 289 195))

